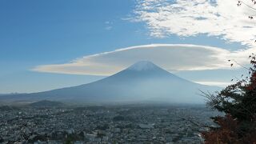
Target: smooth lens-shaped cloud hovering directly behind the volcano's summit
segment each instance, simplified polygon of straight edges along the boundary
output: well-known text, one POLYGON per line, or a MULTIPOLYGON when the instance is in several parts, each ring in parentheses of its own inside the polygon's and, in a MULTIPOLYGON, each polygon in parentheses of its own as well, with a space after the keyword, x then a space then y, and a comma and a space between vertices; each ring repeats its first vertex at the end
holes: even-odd
POLYGON ((227 58, 243 64, 248 50, 233 51, 196 45, 152 44, 132 46, 110 52, 88 55, 64 64, 36 66, 39 72, 60 74, 110 75, 134 62, 148 60, 166 70, 214 70, 230 68, 227 58))

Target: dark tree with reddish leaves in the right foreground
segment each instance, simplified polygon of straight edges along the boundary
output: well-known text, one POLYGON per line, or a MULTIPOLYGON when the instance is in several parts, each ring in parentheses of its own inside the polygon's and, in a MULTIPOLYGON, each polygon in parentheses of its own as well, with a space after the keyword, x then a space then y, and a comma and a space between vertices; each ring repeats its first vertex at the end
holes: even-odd
MULTIPOLYGON (((214 117, 218 128, 202 134, 206 144, 256 144, 256 60, 250 55, 249 76, 242 78, 217 94, 206 94, 207 105, 224 112, 214 117)), ((233 66, 233 64, 231 64, 233 66)))

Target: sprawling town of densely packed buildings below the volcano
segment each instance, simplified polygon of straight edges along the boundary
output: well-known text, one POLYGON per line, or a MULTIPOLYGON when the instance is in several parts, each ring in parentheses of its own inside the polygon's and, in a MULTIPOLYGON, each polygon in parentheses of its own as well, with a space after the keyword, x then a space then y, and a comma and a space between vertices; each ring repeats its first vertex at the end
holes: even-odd
POLYGON ((205 106, 120 105, 0 109, 0 143, 202 143, 220 113, 205 106))

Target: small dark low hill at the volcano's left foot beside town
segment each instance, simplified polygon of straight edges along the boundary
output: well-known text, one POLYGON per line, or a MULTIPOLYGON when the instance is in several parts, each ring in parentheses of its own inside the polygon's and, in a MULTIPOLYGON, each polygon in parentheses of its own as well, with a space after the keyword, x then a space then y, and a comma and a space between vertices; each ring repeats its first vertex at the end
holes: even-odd
POLYGON ((65 105, 62 102, 53 102, 53 101, 42 100, 42 101, 30 103, 29 106, 32 106, 32 107, 62 107, 65 105))

